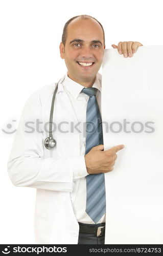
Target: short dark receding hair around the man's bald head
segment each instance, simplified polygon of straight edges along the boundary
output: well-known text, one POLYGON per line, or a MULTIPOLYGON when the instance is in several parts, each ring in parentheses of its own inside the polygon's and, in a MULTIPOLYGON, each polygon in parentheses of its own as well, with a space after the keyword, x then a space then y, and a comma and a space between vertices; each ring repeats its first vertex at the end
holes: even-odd
POLYGON ((94 17, 92 17, 90 15, 86 15, 86 14, 74 16, 74 17, 68 19, 68 21, 65 23, 64 28, 63 28, 63 33, 62 33, 62 43, 63 43, 63 45, 65 46, 65 42, 66 42, 66 38, 67 38, 67 27, 68 27, 68 24, 71 23, 73 19, 78 18, 78 17, 85 18, 85 19, 93 18, 93 19, 95 19, 100 24, 100 26, 101 26, 101 28, 103 30, 104 45, 105 45, 105 32, 104 32, 103 26, 101 25, 101 23, 96 18, 94 18, 94 17))

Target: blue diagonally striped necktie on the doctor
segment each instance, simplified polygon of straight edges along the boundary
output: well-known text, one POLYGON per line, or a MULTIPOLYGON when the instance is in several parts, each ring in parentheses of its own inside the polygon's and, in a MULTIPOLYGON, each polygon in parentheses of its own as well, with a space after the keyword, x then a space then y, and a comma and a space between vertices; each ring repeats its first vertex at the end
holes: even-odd
MULTIPOLYGON (((92 147, 103 144, 102 123, 100 129, 101 114, 96 99, 96 88, 84 88, 83 93, 89 96, 86 110, 86 145, 85 154, 92 147)), ((89 174, 86 176, 86 213, 97 223, 106 212, 105 176, 101 174, 89 174)))

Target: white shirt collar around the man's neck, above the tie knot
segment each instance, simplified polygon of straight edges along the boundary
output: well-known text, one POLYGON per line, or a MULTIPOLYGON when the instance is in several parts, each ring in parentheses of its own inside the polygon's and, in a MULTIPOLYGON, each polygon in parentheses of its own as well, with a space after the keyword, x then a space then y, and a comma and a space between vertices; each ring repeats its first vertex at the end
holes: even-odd
MULTIPOLYGON (((65 74, 65 78, 63 81, 63 87, 65 87, 65 89, 69 93, 71 93, 71 95, 75 99, 77 99, 77 97, 78 97, 79 93, 82 91, 82 89, 85 88, 81 84, 79 84, 79 83, 75 82, 74 80, 72 80, 71 78, 69 78, 67 73, 65 74)), ((97 88, 101 92, 101 74, 100 73, 97 73, 95 82, 92 85, 92 87, 97 88)))

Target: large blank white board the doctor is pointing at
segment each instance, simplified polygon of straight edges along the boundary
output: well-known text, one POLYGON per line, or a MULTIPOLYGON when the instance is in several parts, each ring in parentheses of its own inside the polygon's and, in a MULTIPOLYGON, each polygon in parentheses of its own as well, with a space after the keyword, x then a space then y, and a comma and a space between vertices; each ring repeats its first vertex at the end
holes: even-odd
POLYGON ((101 101, 104 150, 125 145, 105 174, 105 244, 162 244, 163 46, 105 50, 101 101))

